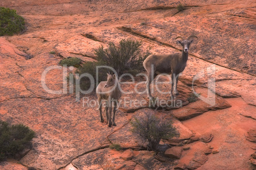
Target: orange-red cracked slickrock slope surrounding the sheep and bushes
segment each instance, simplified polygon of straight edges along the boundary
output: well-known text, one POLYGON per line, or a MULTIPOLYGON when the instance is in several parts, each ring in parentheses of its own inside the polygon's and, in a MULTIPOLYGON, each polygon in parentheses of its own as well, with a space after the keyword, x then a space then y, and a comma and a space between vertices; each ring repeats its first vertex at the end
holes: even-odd
MULTIPOLYGON (((36 132, 32 149, 20 160, 1 162, 0 169, 255 169, 255 1, 20 0, 0 6, 17 10, 27 26, 23 34, 0 37, 0 119, 36 132), (176 9, 179 2, 183 11, 176 9), (94 49, 127 38, 153 54, 176 53, 181 46, 175 37, 191 34, 198 39, 180 75, 180 106, 134 105, 148 102, 146 93, 135 93, 145 91, 140 77, 121 85, 134 93, 122 96, 117 126, 108 128, 99 121, 95 94, 76 101, 65 90, 63 73, 74 70, 60 67, 62 58, 95 61, 94 49), (192 91, 200 97, 189 103, 192 91), (189 148, 180 159, 155 155, 131 132, 129 122, 143 112, 173 121, 180 136, 162 142, 189 148), (111 150, 112 143, 123 150, 111 150)), ((159 79, 167 83, 158 85, 166 94, 152 85, 153 96, 168 100, 169 77, 159 79)))

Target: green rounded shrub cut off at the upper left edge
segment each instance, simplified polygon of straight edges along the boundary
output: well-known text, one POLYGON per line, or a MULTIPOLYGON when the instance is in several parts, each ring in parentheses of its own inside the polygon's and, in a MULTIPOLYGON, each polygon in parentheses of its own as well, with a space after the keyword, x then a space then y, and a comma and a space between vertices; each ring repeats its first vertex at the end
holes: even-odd
POLYGON ((22 16, 15 10, 0 7, 0 36, 20 33, 25 30, 25 22, 22 16))

